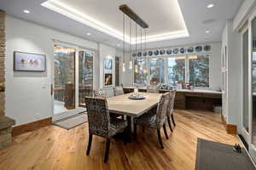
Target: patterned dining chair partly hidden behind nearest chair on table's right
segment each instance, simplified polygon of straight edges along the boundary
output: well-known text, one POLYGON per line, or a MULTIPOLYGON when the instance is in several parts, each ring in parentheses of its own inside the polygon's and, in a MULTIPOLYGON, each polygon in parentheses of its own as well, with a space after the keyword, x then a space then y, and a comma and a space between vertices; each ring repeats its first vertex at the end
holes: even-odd
POLYGON ((167 106, 166 116, 167 116, 167 122, 170 127, 170 130, 172 131, 172 125, 171 125, 171 117, 172 117, 172 123, 174 126, 176 126, 173 118, 173 107, 174 107, 174 100, 176 96, 176 90, 172 90, 170 92, 170 99, 167 106))

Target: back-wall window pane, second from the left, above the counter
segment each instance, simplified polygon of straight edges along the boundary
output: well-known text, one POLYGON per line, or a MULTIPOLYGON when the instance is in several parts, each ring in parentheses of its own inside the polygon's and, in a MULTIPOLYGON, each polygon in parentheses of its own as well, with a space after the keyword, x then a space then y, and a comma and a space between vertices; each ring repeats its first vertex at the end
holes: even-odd
POLYGON ((164 59, 149 59, 149 81, 150 85, 158 85, 165 82, 164 59))

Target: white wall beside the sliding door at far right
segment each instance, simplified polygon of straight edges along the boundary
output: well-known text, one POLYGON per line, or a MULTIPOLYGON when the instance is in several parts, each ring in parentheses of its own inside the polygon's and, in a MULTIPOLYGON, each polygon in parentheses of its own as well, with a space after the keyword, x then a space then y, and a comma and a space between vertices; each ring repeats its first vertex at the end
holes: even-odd
MULTIPOLYGON (((222 35, 222 47, 227 47, 227 97, 224 109, 228 124, 240 126, 241 114, 241 37, 233 31, 232 20, 227 21, 222 35)), ((224 52, 223 52, 224 53, 224 52)))

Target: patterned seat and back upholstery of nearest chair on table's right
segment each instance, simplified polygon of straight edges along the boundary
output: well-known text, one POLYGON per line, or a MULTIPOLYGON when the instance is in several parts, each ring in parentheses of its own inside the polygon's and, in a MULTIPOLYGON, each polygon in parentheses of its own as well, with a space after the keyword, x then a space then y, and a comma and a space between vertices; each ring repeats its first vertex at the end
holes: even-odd
POLYGON ((169 102, 170 94, 163 94, 157 106, 156 113, 148 112, 143 116, 135 118, 134 122, 138 125, 160 129, 166 122, 166 110, 169 102))

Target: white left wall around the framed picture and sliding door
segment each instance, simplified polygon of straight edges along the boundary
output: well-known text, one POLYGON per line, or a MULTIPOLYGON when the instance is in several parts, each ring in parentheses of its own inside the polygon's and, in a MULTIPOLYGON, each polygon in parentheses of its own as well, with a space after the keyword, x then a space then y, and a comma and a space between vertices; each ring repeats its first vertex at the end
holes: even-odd
MULTIPOLYGON (((51 96, 49 95, 52 75, 51 59, 54 57, 52 38, 96 50, 98 48, 96 42, 19 20, 9 15, 6 17, 6 115, 14 118, 17 125, 52 116, 51 96), (47 70, 43 73, 13 71, 14 51, 46 54, 47 70)), ((95 70, 94 74, 94 78, 97 80, 98 71, 95 70)), ((94 82, 94 84, 96 83, 94 82)))

